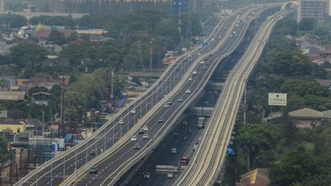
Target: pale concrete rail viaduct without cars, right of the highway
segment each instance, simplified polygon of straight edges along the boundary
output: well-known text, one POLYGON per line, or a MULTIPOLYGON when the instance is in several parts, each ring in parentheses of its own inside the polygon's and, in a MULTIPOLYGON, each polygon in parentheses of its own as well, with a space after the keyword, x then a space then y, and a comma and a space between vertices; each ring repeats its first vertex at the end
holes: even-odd
POLYGON ((199 148, 184 174, 173 186, 212 186, 217 181, 237 118, 245 82, 263 51, 263 41, 269 37, 275 22, 285 13, 288 11, 281 10, 261 25, 247 51, 228 75, 199 148))

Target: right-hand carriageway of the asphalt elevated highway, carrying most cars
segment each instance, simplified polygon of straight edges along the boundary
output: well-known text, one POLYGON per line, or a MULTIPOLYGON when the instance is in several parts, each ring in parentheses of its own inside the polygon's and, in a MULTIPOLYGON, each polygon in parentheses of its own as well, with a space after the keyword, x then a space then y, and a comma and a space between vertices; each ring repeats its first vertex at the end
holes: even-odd
MULTIPOLYGON (((179 76, 180 78, 174 77, 174 82, 179 81, 179 84, 169 95, 163 98, 154 107, 155 111, 148 118, 147 122, 143 124, 143 126, 147 126, 149 129, 145 132, 149 135, 148 140, 143 140, 142 135, 138 134, 137 130, 133 131, 132 135, 134 134, 135 136, 137 136, 137 142, 131 142, 127 138, 125 143, 123 143, 118 148, 118 150, 111 153, 108 157, 105 157, 105 159, 103 159, 101 162, 89 164, 88 167, 96 165, 98 170, 100 170, 97 175, 89 174, 89 172, 87 171, 88 168, 84 168, 79 173, 82 176, 79 176, 77 178, 72 177, 72 179, 70 179, 71 181, 68 181, 68 184, 65 183, 65 185, 117 185, 116 183, 118 182, 118 180, 120 180, 122 175, 129 171, 131 167, 134 166, 138 161, 148 156, 148 154, 160 143, 160 141, 170 131, 172 125, 176 122, 176 120, 181 117, 183 111, 188 107, 188 105, 191 104, 192 101, 195 100, 195 98, 206 86, 208 80, 217 68, 221 59, 223 59, 225 56, 228 56, 236 48, 240 40, 243 39, 244 33, 250 21, 253 18, 258 17, 264 9, 266 8, 258 7, 256 9, 247 11, 244 14, 241 14, 241 16, 246 17, 247 21, 238 26, 235 26, 235 23, 237 23, 240 17, 233 19, 232 16, 230 19, 235 21, 229 27, 228 32, 226 32, 225 36, 222 37, 223 43, 220 43, 217 47, 215 47, 215 49, 211 51, 211 55, 207 53, 205 55, 202 55, 201 58, 198 58, 198 60, 196 60, 195 62, 193 62, 194 64, 190 67, 187 73, 183 73, 183 76, 179 76), (251 16, 252 18, 248 18, 249 16, 251 16), (230 35, 232 35, 232 37, 230 37, 230 35), (235 35, 237 35, 237 37, 235 37, 235 35), (204 61, 204 64, 202 64, 201 61, 204 61), (209 65, 207 65, 207 62, 209 63, 209 65), (204 69, 204 67, 207 67, 207 69, 204 69), (192 74, 193 71, 197 72, 196 75, 192 74), (192 78, 192 81, 188 81, 189 78, 192 78), (187 90, 190 90, 190 93, 187 93, 187 90), (183 98, 182 102, 178 101, 179 97, 183 98), (163 105, 168 99, 172 100, 172 105, 170 105, 169 108, 164 108, 163 105), (163 118, 163 122, 159 123, 158 118, 163 118), (136 143, 139 144, 140 149, 133 148, 136 143)), ((214 35, 214 41, 215 36, 217 36, 217 33, 215 33, 214 35)), ((185 59, 181 59, 181 62, 175 68, 180 69, 179 71, 176 70, 177 73, 182 73, 183 71, 185 71, 184 67, 182 67, 180 64, 185 64, 185 62, 188 62, 189 60, 190 59, 188 57, 186 57, 185 59)))

